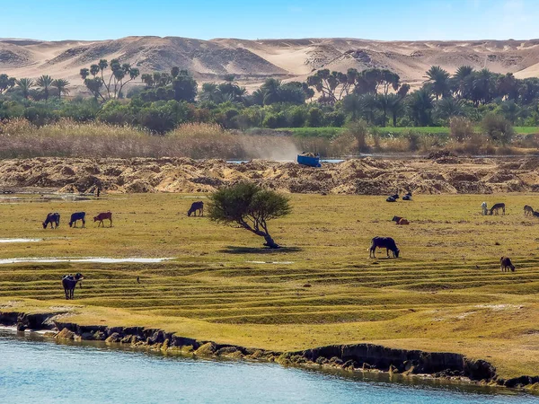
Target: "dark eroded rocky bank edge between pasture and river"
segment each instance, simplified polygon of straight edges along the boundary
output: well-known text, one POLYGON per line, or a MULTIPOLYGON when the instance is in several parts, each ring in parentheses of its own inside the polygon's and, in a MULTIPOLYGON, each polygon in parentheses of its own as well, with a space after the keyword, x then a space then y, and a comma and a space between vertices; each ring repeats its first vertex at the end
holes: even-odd
POLYGON ((374 344, 331 345, 302 351, 278 352, 180 337, 163 329, 81 326, 61 321, 59 314, 61 313, 0 312, 0 325, 15 327, 18 331, 48 330, 45 335, 57 339, 128 344, 130 347, 145 347, 181 355, 268 361, 348 372, 387 372, 515 389, 531 388, 539 383, 539 375, 503 379, 492 364, 469 359, 461 354, 394 349, 374 344))

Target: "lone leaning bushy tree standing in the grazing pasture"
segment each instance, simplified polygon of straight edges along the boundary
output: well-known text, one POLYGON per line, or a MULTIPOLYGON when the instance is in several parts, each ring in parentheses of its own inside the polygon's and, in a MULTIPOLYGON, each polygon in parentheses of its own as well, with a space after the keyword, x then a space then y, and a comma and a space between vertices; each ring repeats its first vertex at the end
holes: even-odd
POLYGON ((240 182, 217 190, 209 197, 209 201, 210 220, 239 225, 263 237, 265 246, 279 248, 270 236, 268 222, 290 213, 287 197, 252 183, 240 182))

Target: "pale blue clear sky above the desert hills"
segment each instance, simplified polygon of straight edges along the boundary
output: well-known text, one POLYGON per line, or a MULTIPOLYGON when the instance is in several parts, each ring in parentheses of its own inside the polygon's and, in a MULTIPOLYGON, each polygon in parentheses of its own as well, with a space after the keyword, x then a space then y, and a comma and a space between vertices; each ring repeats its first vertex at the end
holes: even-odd
POLYGON ((0 0, 0 38, 539 38, 537 0, 0 0))

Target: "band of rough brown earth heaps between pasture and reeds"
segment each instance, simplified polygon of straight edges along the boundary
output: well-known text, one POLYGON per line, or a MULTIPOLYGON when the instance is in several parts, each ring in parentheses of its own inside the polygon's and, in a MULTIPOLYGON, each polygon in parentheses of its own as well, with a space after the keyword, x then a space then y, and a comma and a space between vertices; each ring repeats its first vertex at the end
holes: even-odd
POLYGON ((35 158, 0 161, 0 191, 21 188, 85 192, 93 186, 118 193, 210 192, 252 180, 293 193, 388 195, 489 194, 539 191, 539 159, 374 160, 366 158, 323 168, 294 162, 162 159, 35 158))

